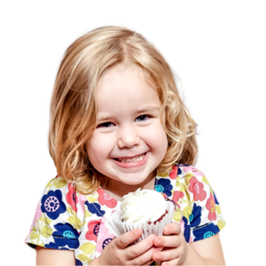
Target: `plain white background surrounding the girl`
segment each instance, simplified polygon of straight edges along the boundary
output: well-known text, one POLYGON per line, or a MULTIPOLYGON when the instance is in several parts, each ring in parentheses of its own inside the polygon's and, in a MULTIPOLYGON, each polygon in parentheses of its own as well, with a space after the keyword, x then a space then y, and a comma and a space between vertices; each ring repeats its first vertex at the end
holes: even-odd
POLYGON ((183 82, 199 124, 197 166, 227 222, 220 233, 227 264, 262 264, 265 12, 264 1, 2 1, 2 262, 35 264, 24 239, 45 184, 56 176, 47 139, 60 60, 76 38, 115 25, 145 35, 183 82))

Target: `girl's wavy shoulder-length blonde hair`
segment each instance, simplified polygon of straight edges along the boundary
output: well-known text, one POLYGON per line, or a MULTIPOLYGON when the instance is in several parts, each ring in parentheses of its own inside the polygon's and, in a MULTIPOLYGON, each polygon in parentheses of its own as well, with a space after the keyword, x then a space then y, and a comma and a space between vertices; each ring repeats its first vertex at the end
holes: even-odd
POLYGON ((118 64, 137 64, 153 78, 165 109, 168 150, 158 169, 193 164, 197 157, 196 123, 178 94, 166 60, 145 37, 125 27, 98 27, 72 43, 59 66, 51 98, 49 151, 58 175, 93 192, 106 184, 96 176, 85 144, 95 129, 98 82, 118 64))

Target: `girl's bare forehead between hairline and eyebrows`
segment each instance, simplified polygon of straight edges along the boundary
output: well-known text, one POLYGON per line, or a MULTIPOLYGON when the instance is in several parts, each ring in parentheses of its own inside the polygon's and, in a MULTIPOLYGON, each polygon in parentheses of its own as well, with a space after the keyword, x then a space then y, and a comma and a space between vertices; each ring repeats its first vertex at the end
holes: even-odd
POLYGON ((132 113, 139 108, 160 108, 160 99, 139 66, 113 69, 98 87, 98 113, 132 113))

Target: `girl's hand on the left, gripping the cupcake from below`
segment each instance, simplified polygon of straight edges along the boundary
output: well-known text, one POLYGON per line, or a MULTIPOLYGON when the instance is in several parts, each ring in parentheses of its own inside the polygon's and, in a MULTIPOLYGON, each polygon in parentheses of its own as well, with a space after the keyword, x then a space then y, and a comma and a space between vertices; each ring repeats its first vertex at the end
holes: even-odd
POLYGON ((120 237, 113 239, 98 257, 99 265, 150 265, 153 254, 162 250, 162 247, 153 246, 156 235, 129 246, 138 239, 143 232, 140 229, 128 231, 120 237))

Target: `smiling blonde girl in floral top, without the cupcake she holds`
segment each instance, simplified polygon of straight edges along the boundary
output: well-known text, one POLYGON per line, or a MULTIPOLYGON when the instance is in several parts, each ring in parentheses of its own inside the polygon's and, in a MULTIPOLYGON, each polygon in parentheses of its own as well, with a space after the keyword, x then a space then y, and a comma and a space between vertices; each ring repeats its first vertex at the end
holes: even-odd
POLYGON ((100 27, 76 40, 51 98, 46 185, 26 242, 37 264, 224 264, 224 221, 197 157, 196 123, 166 60, 142 35, 100 27), (106 228, 121 197, 155 189, 176 201, 163 236, 106 228))

